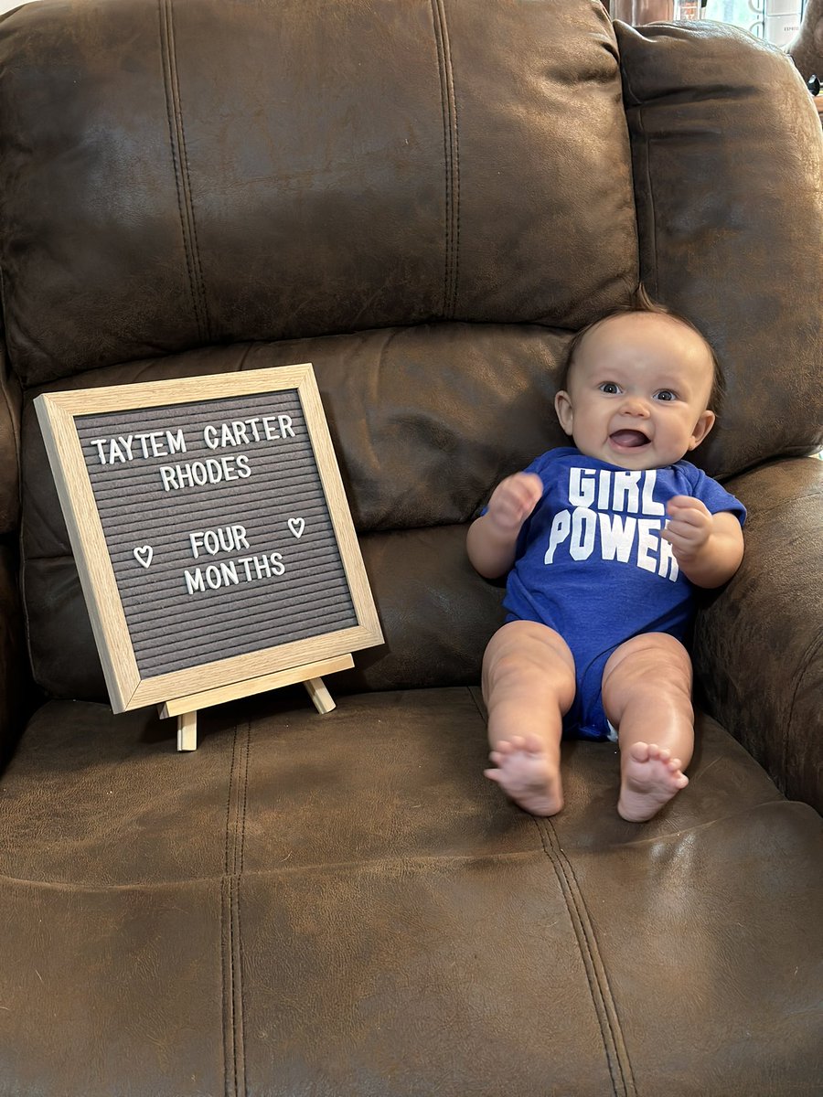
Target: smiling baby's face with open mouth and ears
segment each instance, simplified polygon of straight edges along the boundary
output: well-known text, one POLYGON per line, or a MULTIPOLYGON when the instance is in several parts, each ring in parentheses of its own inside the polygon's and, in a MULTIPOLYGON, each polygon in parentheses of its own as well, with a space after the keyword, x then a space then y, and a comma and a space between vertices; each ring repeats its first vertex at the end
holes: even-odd
POLYGON ((627 313, 577 348, 555 408, 577 449, 620 468, 661 468, 699 445, 714 423, 709 348, 672 317, 627 313))

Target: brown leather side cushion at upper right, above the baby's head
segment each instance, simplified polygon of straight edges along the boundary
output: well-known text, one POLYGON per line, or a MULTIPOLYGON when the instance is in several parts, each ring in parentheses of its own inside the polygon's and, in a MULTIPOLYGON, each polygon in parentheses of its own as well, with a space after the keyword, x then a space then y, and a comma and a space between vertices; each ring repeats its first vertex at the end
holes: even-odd
POLYGON ((734 27, 616 24, 641 270, 723 366, 714 475, 823 446, 820 120, 791 60, 734 27), (794 92, 791 94, 791 92, 794 92))

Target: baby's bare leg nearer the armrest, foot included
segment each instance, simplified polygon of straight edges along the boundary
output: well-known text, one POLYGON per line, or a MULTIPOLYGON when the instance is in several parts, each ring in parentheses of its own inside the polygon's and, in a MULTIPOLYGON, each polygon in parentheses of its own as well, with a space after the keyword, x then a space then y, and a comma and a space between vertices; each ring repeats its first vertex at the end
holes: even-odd
POLYGON ((602 702, 620 744, 618 813, 643 823, 689 783, 684 770, 695 747, 695 713, 688 652, 665 633, 632 637, 606 664, 602 702))

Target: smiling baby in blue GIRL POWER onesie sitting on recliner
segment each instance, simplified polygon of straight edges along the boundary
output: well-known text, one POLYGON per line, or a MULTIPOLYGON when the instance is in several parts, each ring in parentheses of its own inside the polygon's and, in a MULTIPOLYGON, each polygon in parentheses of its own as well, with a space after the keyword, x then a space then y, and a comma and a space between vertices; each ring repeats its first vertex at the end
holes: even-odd
POLYGON ((574 446, 504 479, 469 530, 486 578, 508 573, 483 659, 494 768, 534 815, 563 806, 563 732, 620 747, 618 812, 651 818, 688 784, 691 587, 743 558, 745 508, 683 457, 714 425, 714 354, 645 297, 572 341, 554 406, 574 446))

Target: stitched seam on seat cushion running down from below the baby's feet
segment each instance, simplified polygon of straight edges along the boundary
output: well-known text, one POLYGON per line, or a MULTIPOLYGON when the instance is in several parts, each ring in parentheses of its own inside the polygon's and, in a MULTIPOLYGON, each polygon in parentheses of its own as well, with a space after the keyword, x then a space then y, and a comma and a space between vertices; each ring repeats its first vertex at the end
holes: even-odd
POLYGON ((631 1062, 625 1050, 620 1022, 615 1009, 615 1003, 609 989, 606 970, 600 959, 594 927, 586 911, 574 870, 560 847, 557 833, 549 819, 534 819, 540 833, 543 849, 552 862, 560 881, 572 926, 577 937, 577 945, 583 958, 586 979, 591 994, 600 1033, 602 1036, 606 1062, 611 1076, 616 1097, 636 1097, 636 1087, 632 1074, 631 1062))

